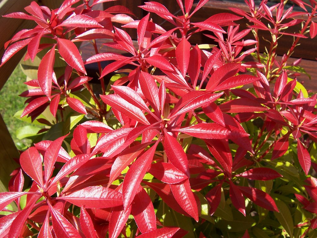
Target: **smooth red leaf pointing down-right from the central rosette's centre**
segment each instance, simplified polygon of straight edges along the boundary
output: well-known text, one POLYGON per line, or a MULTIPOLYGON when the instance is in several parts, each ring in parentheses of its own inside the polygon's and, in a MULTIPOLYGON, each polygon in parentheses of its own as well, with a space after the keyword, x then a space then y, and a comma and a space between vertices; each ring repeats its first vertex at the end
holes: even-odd
POLYGON ((183 147, 173 136, 169 135, 166 130, 164 135, 164 149, 167 158, 177 169, 189 177, 188 160, 183 147))

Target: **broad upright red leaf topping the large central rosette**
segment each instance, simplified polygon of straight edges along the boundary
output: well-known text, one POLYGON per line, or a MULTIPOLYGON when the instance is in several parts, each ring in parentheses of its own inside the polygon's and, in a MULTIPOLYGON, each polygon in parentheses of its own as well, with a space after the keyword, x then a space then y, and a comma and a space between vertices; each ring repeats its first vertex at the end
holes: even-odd
POLYGON ((146 100, 150 103, 156 114, 159 115, 159 89, 154 78, 149 73, 141 71, 139 83, 146 100))

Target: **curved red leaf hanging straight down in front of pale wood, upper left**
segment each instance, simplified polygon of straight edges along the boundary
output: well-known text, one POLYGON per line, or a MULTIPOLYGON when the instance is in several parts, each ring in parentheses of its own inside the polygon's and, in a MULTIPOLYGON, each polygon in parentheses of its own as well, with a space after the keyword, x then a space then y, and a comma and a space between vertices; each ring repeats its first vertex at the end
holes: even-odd
POLYGON ((37 71, 37 80, 43 93, 50 99, 52 90, 53 67, 55 62, 55 45, 42 58, 37 71))

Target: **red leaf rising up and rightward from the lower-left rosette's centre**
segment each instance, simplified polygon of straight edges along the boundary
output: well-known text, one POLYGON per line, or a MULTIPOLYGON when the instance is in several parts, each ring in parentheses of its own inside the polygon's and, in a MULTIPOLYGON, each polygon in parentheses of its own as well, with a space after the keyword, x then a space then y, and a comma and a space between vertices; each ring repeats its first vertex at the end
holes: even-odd
MULTIPOLYGON (((66 135, 68 136, 68 135, 66 135)), ((49 181, 49 178, 52 175, 54 164, 57 160, 61 144, 66 136, 61 136, 55 141, 53 141, 47 148, 44 154, 44 171, 45 171, 45 184, 49 181)))

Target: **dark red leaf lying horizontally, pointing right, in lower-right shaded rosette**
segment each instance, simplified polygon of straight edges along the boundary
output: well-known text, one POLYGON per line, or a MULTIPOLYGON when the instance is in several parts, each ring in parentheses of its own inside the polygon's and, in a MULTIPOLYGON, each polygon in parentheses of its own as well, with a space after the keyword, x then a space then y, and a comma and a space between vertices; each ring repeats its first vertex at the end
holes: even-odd
POLYGON ((249 169, 241 174, 236 175, 236 177, 243 177, 252 180, 272 180, 275 178, 282 177, 279 173, 277 173, 274 169, 269 168, 254 168, 249 169))

